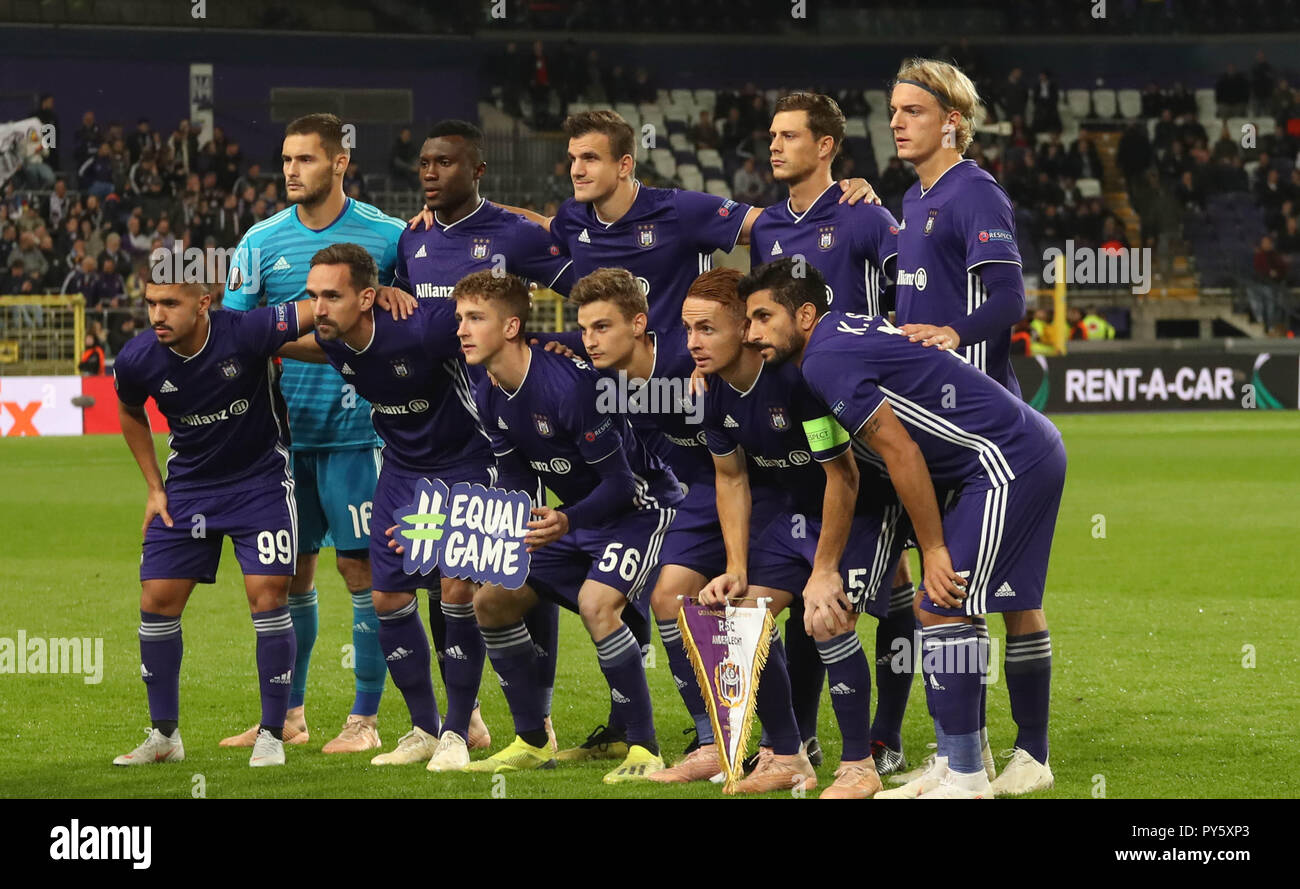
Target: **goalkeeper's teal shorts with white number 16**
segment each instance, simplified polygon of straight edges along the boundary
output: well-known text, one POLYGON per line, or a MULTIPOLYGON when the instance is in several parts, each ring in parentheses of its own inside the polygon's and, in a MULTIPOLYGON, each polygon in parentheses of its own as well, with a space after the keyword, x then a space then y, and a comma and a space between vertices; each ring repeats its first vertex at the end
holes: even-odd
POLYGON ((294 451, 298 554, 370 546, 370 503, 380 478, 380 448, 294 451))

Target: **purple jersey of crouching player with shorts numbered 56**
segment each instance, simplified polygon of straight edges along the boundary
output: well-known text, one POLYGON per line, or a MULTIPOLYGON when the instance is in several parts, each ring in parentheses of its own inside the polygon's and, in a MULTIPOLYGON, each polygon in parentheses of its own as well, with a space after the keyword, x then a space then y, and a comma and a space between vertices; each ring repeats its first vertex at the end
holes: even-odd
POLYGON ((599 376, 586 363, 530 346, 532 360, 519 389, 474 382, 493 454, 517 451, 542 482, 572 506, 601 482, 595 464, 623 451, 636 478, 627 509, 656 509, 681 500, 681 486, 663 460, 646 450, 621 413, 602 412, 599 376))

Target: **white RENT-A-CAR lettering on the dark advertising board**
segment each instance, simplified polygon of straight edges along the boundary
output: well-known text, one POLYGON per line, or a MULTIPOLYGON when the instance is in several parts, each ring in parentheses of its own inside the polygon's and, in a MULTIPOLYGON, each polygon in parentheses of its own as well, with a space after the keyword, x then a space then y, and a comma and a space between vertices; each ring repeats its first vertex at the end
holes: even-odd
POLYGON ((1065 372, 1065 400, 1079 404, 1109 402, 1234 402, 1234 368, 1071 368, 1065 372))

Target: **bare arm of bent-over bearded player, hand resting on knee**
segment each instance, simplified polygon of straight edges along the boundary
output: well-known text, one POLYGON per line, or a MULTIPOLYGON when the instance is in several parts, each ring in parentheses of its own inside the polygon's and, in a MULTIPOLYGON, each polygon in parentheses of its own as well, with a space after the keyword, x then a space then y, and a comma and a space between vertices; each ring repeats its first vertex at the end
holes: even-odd
POLYGON ((881 402, 858 429, 857 438, 885 461, 889 481, 911 519, 916 543, 920 546, 926 572, 926 590, 936 604, 949 608, 966 597, 965 581, 953 571, 944 526, 939 516, 939 499, 930 467, 916 442, 904 429, 889 402, 881 402))

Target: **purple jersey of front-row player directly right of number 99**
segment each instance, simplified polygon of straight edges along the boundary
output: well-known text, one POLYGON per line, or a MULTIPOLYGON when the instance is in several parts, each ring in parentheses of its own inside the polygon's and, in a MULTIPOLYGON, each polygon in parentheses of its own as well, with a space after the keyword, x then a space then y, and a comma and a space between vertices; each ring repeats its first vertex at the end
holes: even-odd
POLYGON ((455 318, 426 300, 406 321, 382 311, 373 317, 373 337, 360 351, 320 334, 316 342, 339 376, 370 403, 384 459, 433 474, 491 463, 455 318))

